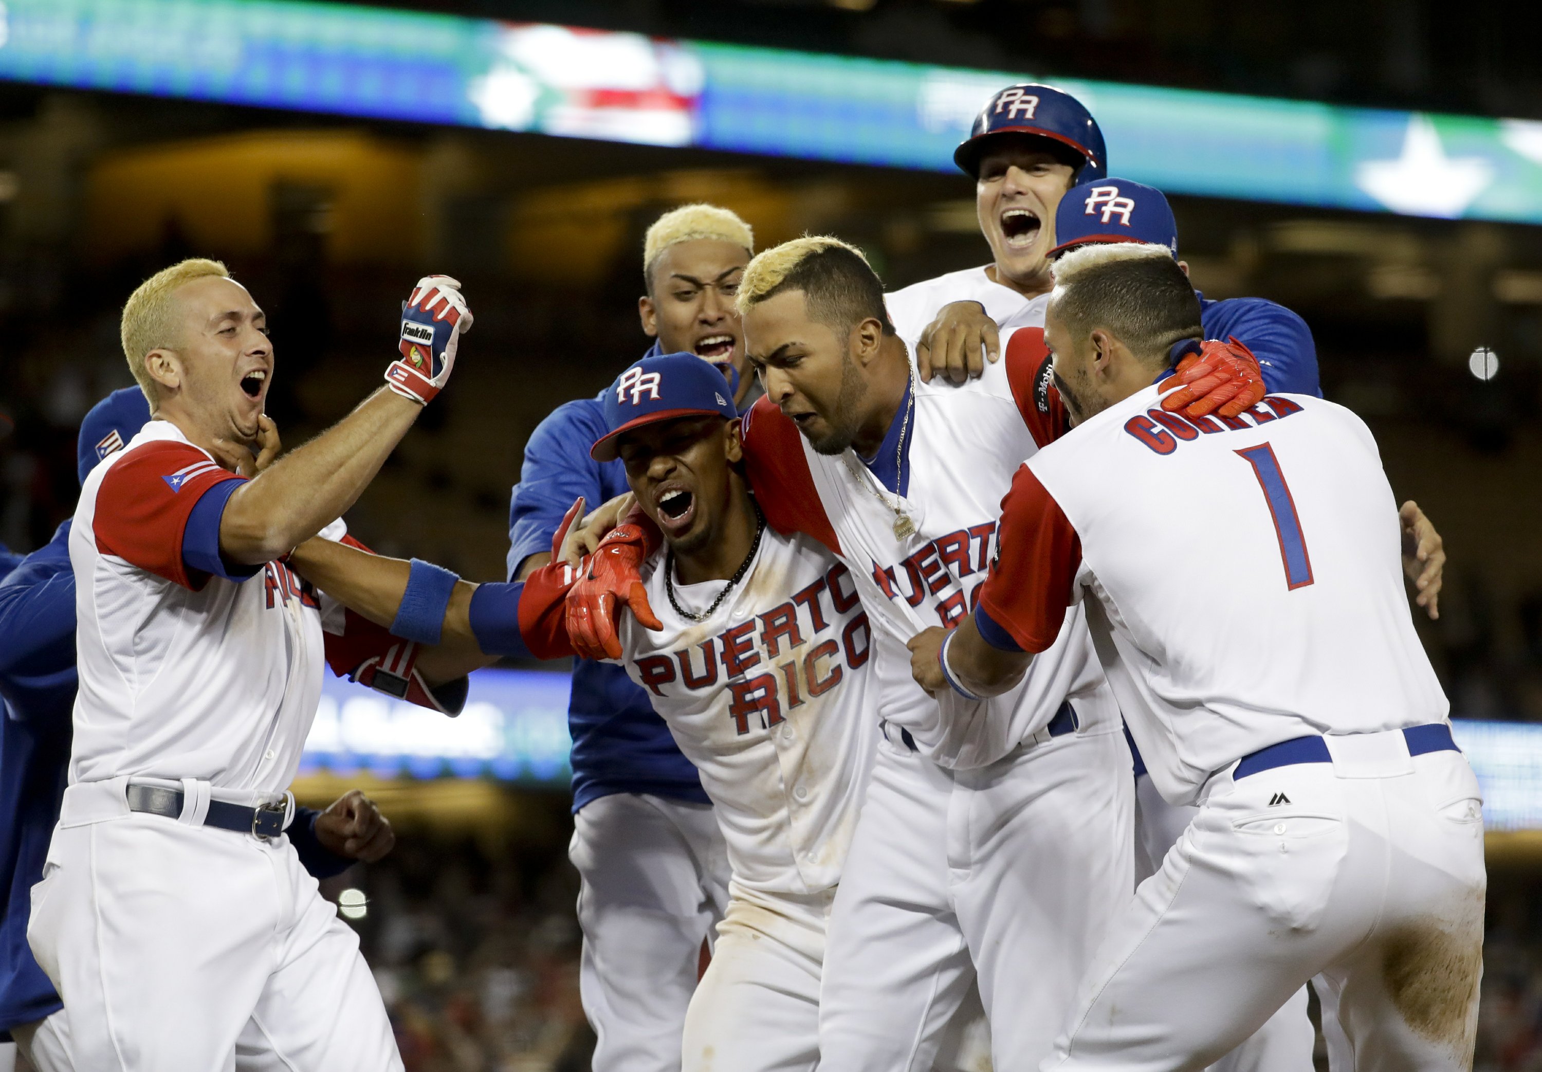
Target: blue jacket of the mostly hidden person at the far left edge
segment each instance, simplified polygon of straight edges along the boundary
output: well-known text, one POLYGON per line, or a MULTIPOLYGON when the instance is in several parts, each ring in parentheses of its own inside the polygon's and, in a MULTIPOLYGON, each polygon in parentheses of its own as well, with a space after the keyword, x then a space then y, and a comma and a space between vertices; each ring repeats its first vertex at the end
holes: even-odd
MULTIPOLYGON (((76 705, 76 575, 69 521, 39 551, 0 548, 0 1038, 60 1009, 26 944, 31 890, 43 878, 69 767, 76 705)), ((296 808, 288 836, 316 878, 345 870, 296 808)))

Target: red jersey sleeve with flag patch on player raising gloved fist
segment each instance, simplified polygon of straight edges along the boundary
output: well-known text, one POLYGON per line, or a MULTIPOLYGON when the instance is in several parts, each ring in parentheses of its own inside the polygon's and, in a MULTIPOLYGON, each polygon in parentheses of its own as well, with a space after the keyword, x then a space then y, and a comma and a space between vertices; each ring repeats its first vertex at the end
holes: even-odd
MULTIPOLYGON (((97 551, 183 588, 200 589, 210 575, 190 568, 183 557, 188 520, 205 494, 219 489, 216 494, 228 498, 236 486, 221 486, 244 480, 187 443, 156 440, 134 447, 108 470, 97 489, 91 520, 97 551)), ((217 555, 217 517, 214 524, 211 538, 217 555)), ((208 538, 210 534, 200 534, 197 543, 208 543, 208 538)))

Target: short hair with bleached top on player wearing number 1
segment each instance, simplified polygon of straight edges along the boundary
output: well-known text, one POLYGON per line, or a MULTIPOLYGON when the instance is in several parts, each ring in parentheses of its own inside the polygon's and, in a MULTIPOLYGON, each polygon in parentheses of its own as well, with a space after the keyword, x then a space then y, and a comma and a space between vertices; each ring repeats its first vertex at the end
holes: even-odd
POLYGON ((1200 296, 1166 245, 1082 245, 1055 262, 1055 308, 1072 335, 1107 329, 1141 361, 1166 364, 1201 338, 1200 296))

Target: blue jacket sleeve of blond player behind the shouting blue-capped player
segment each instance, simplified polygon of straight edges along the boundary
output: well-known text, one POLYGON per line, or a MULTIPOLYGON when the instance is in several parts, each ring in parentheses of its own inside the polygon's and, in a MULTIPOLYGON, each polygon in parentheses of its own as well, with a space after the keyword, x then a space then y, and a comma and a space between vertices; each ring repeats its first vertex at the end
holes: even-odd
POLYGON ((604 410, 597 398, 558 406, 524 444, 524 467, 509 503, 509 580, 520 565, 552 549, 552 535, 580 495, 586 509, 606 498, 600 463, 589 447, 604 435, 604 410))

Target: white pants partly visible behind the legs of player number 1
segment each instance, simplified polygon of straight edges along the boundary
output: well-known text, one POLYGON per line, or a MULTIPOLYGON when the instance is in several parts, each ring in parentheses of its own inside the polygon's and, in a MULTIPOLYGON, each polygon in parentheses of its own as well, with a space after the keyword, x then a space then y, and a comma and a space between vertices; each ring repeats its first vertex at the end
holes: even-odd
MULTIPOLYGON (((1135 881, 1144 882, 1161 862, 1200 810, 1167 804, 1150 777, 1135 779, 1135 881)), ((1311 1072, 1317 1032, 1306 1015, 1306 987, 1291 995, 1280 1009, 1249 1035, 1241 1046, 1210 1066, 1210 1072, 1311 1072)))

